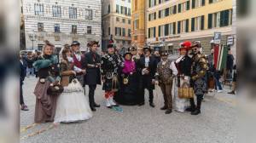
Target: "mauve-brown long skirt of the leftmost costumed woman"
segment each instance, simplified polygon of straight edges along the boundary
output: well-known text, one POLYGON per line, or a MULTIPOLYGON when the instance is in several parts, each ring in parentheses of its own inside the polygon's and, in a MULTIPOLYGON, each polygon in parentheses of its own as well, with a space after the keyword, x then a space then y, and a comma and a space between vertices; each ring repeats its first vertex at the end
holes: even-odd
POLYGON ((40 83, 38 81, 34 94, 36 95, 35 123, 53 122, 55 117, 56 102, 58 96, 47 94, 49 81, 40 83))

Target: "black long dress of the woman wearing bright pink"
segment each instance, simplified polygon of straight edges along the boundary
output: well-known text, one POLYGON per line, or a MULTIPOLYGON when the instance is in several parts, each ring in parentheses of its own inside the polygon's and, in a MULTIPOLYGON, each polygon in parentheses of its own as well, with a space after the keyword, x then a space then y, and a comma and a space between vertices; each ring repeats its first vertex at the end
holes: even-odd
MULTIPOLYGON (((127 81, 127 80, 126 80, 127 81)), ((137 94, 139 87, 139 78, 138 73, 132 72, 119 74, 119 83, 120 89, 119 92, 114 96, 114 100, 120 105, 124 106, 135 106, 139 103, 139 96, 137 94), (125 83, 125 79, 128 79, 128 82, 125 83)))

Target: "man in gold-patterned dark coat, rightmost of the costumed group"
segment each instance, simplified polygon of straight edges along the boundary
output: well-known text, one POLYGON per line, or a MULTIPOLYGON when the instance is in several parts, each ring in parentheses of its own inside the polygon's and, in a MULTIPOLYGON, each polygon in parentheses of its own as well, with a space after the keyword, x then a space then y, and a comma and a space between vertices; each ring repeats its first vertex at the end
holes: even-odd
POLYGON ((191 115, 198 115, 201 113, 201 100, 203 95, 207 93, 207 58, 204 54, 201 54, 201 44, 194 42, 191 46, 193 57, 191 66, 191 84, 196 95, 196 106, 194 99, 190 99, 190 107, 187 111, 191 112, 191 115))

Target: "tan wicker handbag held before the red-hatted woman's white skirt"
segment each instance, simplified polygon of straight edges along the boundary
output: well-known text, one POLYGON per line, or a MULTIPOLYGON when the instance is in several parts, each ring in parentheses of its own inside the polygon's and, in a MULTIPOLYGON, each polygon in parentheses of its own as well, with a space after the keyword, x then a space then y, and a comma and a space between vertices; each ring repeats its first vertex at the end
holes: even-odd
POLYGON ((178 97, 179 98, 193 98, 194 97, 194 89, 189 87, 189 83, 183 83, 181 88, 178 88, 178 97))

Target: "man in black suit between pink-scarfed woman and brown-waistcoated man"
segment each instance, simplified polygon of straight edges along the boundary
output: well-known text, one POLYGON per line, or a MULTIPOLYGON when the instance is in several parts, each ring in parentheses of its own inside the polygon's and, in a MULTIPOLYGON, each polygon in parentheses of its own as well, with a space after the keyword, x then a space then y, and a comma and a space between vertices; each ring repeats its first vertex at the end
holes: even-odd
POLYGON ((154 107, 154 75, 156 72, 157 61, 151 56, 151 49, 148 47, 143 48, 144 56, 139 60, 138 71, 140 73, 140 104, 143 106, 144 101, 144 89, 148 89, 149 92, 149 106, 154 107))

